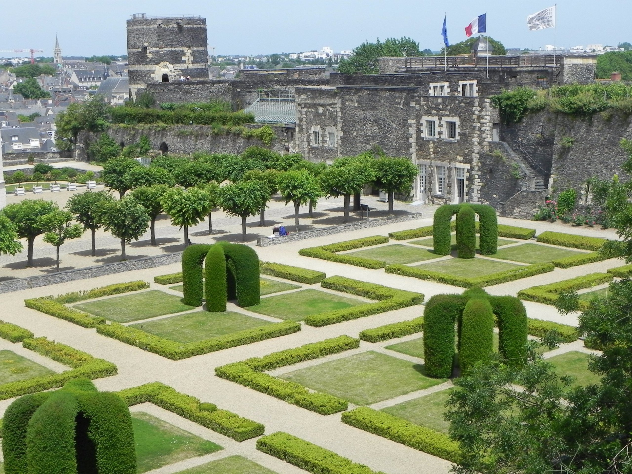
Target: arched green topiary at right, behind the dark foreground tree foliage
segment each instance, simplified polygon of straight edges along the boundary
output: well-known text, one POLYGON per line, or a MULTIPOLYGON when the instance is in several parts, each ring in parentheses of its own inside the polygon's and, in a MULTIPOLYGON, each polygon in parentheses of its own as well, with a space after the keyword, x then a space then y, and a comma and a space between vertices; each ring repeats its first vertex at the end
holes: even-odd
MULTIPOLYGON (((486 310, 487 311, 487 310, 486 310)), ((430 377, 447 378, 453 373, 454 361, 454 325, 458 337, 459 352, 465 351, 465 367, 467 370, 477 360, 484 360, 491 354, 488 340, 491 340, 494 330, 494 316, 499 329, 499 353, 508 364, 514 367, 523 365, 526 356, 527 343, 527 317, 522 301, 514 296, 490 296, 482 288, 470 288, 463 295, 435 295, 426 303, 423 313, 423 346, 426 373, 430 377), (480 304, 473 305, 466 318, 465 310, 470 301, 485 301, 485 307, 489 305, 492 323, 489 324, 489 315, 485 313, 478 326, 472 326, 473 317, 470 313, 477 309, 481 312, 480 304), (467 322, 465 322, 467 321, 467 322), (480 331, 472 329, 480 327, 480 331), (481 331, 484 332, 481 335, 481 331), (477 342, 478 341, 478 342, 477 342), (483 342, 480 342, 483 341, 483 342), (477 350, 476 344, 485 344, 484 351, 487 356, 477 350), (472 346, 474 344, 474 346, 472 346), (477 355, 471 355, 476 353, 477 355)), ((459 354, 459 361, 461 355, 459 354)))

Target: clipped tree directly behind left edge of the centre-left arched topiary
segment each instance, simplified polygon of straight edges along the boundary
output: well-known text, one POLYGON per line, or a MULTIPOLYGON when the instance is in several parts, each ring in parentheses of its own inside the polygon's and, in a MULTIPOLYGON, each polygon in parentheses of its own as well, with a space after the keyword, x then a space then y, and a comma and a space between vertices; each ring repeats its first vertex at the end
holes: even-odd
POLYGON ((189 244, 189 228, 204 222, 211 207, 210 195, 200 188, 171 188, 162 195, 162 208, 171 217, 171 224, 185 229, 185 245, 189 244))

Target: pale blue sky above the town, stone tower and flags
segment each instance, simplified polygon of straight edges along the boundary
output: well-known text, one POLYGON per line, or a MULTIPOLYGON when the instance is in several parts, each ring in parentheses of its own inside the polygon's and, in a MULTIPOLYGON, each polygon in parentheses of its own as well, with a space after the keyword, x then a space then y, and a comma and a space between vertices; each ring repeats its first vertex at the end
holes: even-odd
MULTIPOLYGON (((125 20, 132 13, 147 13, 204 16, 215 54, 300 52, 322 46, 341 51, 365 39, 401 36, 412 37, 422 49, 437 50, 442 46, 446 9, 451 44, 465 39, 465 26, 487 11, 490 36, 506 47, 538 48, 553 43, 553 30, 530 32, 526 16, 552 4, 547 0, 66 0, 42 9, 40 0, 0 0, 0 11, 21 18, 3 22, 0 49, 44 49, 44 55, 52 56, 58 33, 64 55, 125 54, 125 20)), ((559 0, 557 46, 632 42, 629 18, 629 0, 559 0)))

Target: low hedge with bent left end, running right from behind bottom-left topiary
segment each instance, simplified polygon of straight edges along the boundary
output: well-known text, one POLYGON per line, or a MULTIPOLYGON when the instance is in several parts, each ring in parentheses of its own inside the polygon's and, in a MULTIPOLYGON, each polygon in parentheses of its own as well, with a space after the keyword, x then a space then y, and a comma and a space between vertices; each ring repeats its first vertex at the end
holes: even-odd
POLYGON ((246 441, 246 439, 261 436, 265 432, 265 426, 262 423, 242 418, 231 411, 217 410, 214 404, 200 403, 199 399, 180 393, 161 382, 124 389, 117 394, 128 406, 153 403, 235 441, 246 441))

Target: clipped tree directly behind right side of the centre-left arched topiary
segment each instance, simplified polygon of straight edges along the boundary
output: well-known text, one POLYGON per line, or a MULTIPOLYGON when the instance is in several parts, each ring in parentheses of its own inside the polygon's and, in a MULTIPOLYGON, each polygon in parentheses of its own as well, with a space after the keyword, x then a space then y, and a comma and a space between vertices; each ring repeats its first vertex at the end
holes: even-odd
POLYGON ((246 218, 255 216, 270 195, 265 184, 257 180, 240 181, 219 188, 219 205, 229 216, 241 217, 241 240, 246 240, 246 218))

